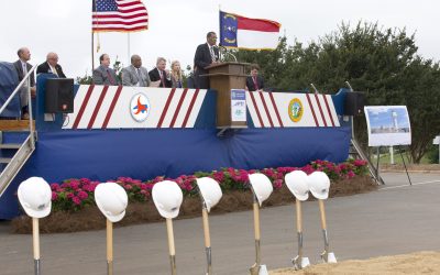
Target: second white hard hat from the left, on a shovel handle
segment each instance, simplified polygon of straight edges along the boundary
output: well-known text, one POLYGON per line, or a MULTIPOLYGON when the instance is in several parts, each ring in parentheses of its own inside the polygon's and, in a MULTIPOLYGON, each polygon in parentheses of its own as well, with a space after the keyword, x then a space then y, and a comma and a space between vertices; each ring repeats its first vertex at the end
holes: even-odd
POLYGON ((95 201, 109 221, 118 222, 125 216, 129 197, 119 184, 102 183, 95 189, 95 201))

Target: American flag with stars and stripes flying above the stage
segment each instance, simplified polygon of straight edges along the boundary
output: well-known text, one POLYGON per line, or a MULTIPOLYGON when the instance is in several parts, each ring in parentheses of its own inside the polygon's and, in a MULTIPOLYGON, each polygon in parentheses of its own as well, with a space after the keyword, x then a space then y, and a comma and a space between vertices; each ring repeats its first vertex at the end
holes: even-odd
POLYGON ((148 12, 141 0, 94 0, 94 32, 135 32, 148 29, 148 12))

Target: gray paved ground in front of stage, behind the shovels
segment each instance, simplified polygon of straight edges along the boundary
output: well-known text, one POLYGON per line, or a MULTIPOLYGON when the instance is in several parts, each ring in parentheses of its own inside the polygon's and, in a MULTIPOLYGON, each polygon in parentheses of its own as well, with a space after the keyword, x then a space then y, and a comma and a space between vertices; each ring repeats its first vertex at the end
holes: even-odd
MULTIPOLYGON (((330 245, 339 261, 440 250, 440 174, 382 174, 386 186, 326 201, 330 245)), ((251 209, 251 206, 250 206, 251 209)), ((322 250, 317 201, 304 204, 305 253, 322 250)), ((261 211, 262 257, 270 270, 296 255, 295 208, 261 211)), ((249 274, 254 262, 251 211, 210 217, 215 274, 249 274)), ((174 222, 179 275, 205 274, 201 219, 174 222)), ((42 235, 42 274, 106 274, 106 232, 42 235)), ((165 222, 114 230, 114 274, 169 274, 165 222)), ((0 274, 33 274, 32 238, 8 233, 0 222, 0 274)))

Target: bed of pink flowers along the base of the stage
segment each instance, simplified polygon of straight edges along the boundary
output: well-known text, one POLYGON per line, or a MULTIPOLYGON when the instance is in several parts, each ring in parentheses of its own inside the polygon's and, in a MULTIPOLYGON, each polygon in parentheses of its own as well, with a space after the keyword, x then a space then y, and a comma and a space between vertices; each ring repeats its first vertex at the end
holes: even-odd
MULTIPOLYGON (((212 170, 210 173, 197 172, 194 175, 182 175, 177 178, 165 178, 162 176, 155 177, 146 182, 133 179, 131 177, 119 177, 107 182, 118 183, 121 185, 128 196, 129 201, 147 201, 151 199, 151 191, 154 184, 164 179, 176 182, 180 186, 184 196, 193 196, 197 194, 195 188, 196 178, 211 177, 216 179, 223 191, 228 190, 245 190, 249 189, 249 175, 253 173, 263 173, 266 175, 274 186, 274 189, 282 188, 284 176, 293 170, 304 170, 311 174, 315 170, 324 172, 331 180, 343 178, 352 178, 355 175, 366 174, 366 162, 355 160, 341 164, 334 164, 327 161, 316 161, 304 167, 278 167, 257 169, 234 169, 222 168, 221 170, 212 170)), ((53 183, 52 188, 52 205, 54 211, 78 211, 89 205, 95 205, 94 191, 99 182, 92 182, 88 178, 70 178, 62 184, 53 183)))

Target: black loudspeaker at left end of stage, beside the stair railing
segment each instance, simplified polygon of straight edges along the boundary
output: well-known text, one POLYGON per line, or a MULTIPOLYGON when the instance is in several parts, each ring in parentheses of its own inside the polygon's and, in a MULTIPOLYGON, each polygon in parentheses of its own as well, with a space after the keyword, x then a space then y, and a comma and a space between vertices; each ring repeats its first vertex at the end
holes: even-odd
POLYGON ((74 79, 51 78, 46 81, 44 112, 74 112, 74 79))

